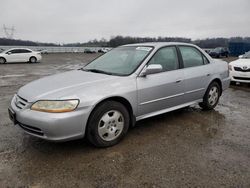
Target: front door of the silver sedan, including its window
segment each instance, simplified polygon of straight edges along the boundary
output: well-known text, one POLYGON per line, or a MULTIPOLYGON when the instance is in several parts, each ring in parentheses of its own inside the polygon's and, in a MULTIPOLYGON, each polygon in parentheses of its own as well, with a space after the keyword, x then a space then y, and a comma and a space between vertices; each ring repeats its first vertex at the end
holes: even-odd
POLYGON ((137 78, 139 116, 177 106, 184 98, 184 74, 175 46, 159 49, 149 64, 160 64, 163 71, 137 78))

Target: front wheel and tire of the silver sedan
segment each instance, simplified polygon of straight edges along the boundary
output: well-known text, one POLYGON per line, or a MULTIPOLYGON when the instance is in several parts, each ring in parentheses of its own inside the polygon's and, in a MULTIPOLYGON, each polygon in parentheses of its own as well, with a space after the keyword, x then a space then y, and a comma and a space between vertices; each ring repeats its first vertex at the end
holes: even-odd
POLYGON ((130 123, 128 110, 116 101, 101 103, 91 113, 87 138, 96 147, 110 147, 125 136, 130 123))

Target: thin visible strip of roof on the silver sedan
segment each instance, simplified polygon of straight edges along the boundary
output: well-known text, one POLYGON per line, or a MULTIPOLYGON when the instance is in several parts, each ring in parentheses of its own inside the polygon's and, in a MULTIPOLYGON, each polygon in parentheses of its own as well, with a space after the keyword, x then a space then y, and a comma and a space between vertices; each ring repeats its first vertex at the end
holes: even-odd
POLYGON ((184 43, 184 42, 145 42, 145 43, 126 44, 123 46, 153 46, 155 48, 160 48, 163 46, 173 46, 173 45, 195 46, 191 43, 184 43))

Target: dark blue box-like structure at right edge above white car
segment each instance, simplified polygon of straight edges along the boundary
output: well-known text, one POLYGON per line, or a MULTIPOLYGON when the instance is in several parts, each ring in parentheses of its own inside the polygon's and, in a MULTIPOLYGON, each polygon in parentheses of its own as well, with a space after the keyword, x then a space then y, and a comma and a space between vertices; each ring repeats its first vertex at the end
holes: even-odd
POLYGON ((250 43, 246 42, 229 42, 228 48, 230 54, 233 56, 239 56, 244 54, 245 52, 250 51, 250 43))

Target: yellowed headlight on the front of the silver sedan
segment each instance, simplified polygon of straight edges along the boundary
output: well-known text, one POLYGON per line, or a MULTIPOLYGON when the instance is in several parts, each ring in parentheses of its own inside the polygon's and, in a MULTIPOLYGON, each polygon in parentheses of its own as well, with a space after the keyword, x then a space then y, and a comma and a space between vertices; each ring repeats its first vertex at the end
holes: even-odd
POLYGON ((42 111, 42 112, 51 112, 51 113, 62 113, 62 112, 71 112, 76 109, 79 104, 79 100, 41 100, 35 102, 31 106, 31 110, 42 111))

